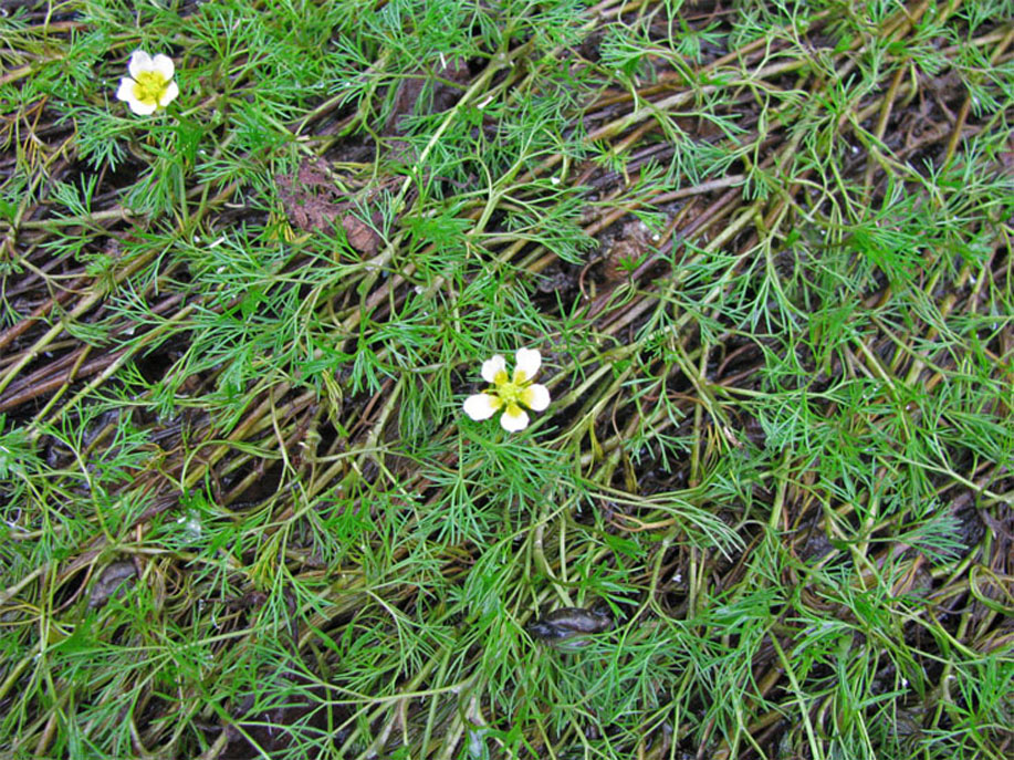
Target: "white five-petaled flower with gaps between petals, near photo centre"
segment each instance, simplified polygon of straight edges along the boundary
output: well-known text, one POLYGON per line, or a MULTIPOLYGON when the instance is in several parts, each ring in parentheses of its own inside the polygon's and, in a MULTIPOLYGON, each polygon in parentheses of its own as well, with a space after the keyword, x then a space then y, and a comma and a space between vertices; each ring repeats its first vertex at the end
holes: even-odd
POLYGON ((482 363, 482 379, 492 387, 469 396, 464 400, 464 414, 472 419, 489 419, 503 409, 501 427, 516 433, 529 426, 529 415, 522 406, 542 412, 550 405, 546 386, 532 383, 542 365, 542 355, 535 348, 519 348, 514 360, 513 376, 508 374, 506 360, 500 354, 482 363))

